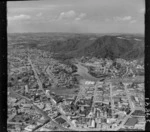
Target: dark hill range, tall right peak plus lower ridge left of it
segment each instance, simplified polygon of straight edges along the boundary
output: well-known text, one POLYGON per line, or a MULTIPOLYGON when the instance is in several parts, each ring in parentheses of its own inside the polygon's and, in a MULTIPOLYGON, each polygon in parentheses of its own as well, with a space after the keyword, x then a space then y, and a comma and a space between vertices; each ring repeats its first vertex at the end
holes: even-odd
POLYGON ((61 56, 91 56, 111 59, 139 59, 144 57, 144 40, 137 41, 134 39, 119 39, 116 36, 102 36, 93 40, 69 39, 60 45, 60 47, 55 45, 53 51, 61 56))

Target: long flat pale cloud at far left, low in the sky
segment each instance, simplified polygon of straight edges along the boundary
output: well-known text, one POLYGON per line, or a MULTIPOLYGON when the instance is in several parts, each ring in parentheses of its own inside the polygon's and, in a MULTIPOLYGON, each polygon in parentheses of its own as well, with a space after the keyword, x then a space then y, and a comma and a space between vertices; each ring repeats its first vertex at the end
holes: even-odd
POLYGON ((30 19, 31 17, 29 15, 18 15, 18 16, 12 16, 12 17, 8 17, 8 21, 16 21, 16 20, 27 20, 30 19))

